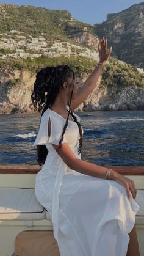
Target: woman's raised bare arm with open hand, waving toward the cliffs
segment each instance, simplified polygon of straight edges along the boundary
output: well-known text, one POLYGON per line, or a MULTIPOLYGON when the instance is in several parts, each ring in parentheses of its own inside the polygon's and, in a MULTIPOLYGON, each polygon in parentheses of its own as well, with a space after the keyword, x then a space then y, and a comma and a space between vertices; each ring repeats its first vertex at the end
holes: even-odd
MULTIPOLYGON (((103 37, 101 40, 101 48, 98 44, 98 50, 99 50, 99 59, 101 64, 105 65, 107 60, 109 59, 110 53, 112 51, 112 48, 107 50, 107 40, 103 37), (107 53, 108 51, 108 53, 107 53)), ((90 95, 90 93, 93 92, 93 89, 95 88, 96 84, 98 84, 98 80, 101 76, 102 68, 96 67, 90 76, 87 78, 87 80, 84 82, 84 86, 82 86, 81 89, 77 92, 76 99, 71 101, 71 109, 74 111, 82 102, 84 102, 85 98, 90 95)))

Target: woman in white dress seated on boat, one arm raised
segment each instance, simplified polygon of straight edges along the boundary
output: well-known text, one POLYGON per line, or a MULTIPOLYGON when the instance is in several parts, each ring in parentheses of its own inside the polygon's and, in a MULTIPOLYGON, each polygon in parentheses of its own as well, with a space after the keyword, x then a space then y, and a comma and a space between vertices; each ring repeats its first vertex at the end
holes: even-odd
POLYGON ((73 111, 92 93, 109 59, 106 38, 98 50, 99 64, 79 92, 68 65, 37 73, 31 105, 43 109, 34 142, 43 167, 35 195, 51 215, 61 256, 138 256, 134 181, 81 159, 83 129, 73 111))

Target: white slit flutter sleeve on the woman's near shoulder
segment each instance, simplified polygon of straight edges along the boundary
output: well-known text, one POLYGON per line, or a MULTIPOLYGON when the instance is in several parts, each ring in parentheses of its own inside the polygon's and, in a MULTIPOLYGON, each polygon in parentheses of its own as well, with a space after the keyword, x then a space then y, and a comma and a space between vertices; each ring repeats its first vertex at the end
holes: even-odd
MULTIPOLYGON (((54 116, 41 117, 40 127, 35 139, 33 146, 35 145, 45 145, 47 143, 52 143, 59 145, 59 141, 62 137, 63 127, 65 122, 62 122, 59 118, 54 116), (51 122, 51 134, 48 136, 48 121, 51 122)), ((67 143, 65 134, 63 135, 62 143, 67 143)))

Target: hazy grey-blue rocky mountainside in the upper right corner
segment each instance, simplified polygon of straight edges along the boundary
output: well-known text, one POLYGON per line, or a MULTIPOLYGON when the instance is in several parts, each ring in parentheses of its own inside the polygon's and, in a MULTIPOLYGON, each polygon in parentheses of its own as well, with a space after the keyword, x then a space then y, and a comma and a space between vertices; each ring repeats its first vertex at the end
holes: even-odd
POLYGON ((144 2, 119 13, 108 14, 107 20, 95 24, 95 34, 107 36, 113 53, 135 67, 144 67, 144 2))

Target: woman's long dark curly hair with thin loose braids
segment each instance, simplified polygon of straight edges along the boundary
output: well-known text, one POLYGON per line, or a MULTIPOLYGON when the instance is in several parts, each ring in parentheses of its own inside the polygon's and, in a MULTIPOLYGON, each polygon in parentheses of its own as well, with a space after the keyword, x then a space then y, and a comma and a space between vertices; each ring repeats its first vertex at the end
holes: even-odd
MULTIPOLYGON (((34 90, 31 94, 32 103, 29 104, 29 108, 33 106, 31 109, 34 108, 35 112, 37 111, 37 109, 38 109, 38 112, 41 112, 41 109, 43 109, 41 113, 41 117, 42 117, 46 109, 52 106, 57 96, 57 93, 59 92, 60 86, 62 86, 64 82, 67 82, 68 78, 73 78, 73 88, 74 88, 75 74, 74 74, 74 71, 68 65, 58 65, 56 67, 48 66, 38 71, 36 75, 36 80, 34 82, 34 90), (47 94, 45 95, 45 93, 47 94), (38 104, 38 108, 37 108, 37 104, 38 104)), ((71 92, 70 103, 68 102, 68 106, 69 106, 68 117, 71 114, 74 119, 74 122, 76 122, 79 127, 80 139, 79 139, 78 154, 80 154, 81 147, 82 147, 82 128, 81 128, 81 124, 77 121, 76 116, 73 115, 73 111, 70 108, 72 95, 73 95, 73 89, 71 92)), ((68 126, 68 117, 63 127, 62 137, 59 141, 59 148, 62 145, 63 135, 65 134, 65 130, 68 126)), ((57 148, 58 154, 59 154, 59 148, 57 148)), ((40 166, 45 163, 47 154, 48 154, 48 149, 46 148, 46 145, 37 145, 37 155, 38 155, 37 161, 40 166)))

